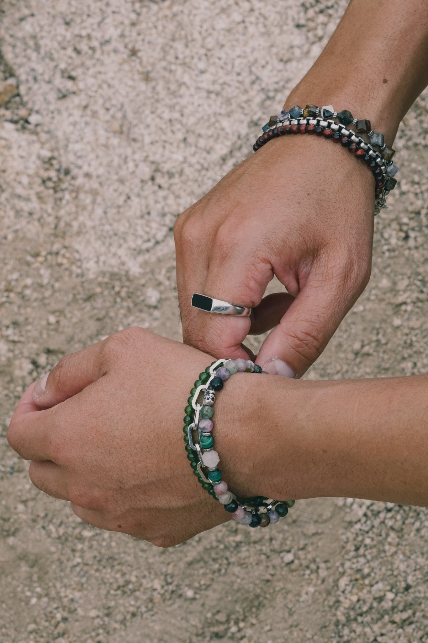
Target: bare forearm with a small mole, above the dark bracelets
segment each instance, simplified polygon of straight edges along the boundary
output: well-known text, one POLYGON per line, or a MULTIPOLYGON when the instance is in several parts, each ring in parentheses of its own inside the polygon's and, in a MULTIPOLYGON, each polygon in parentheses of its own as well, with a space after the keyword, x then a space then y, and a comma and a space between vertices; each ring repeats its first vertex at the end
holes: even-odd
POLYGON ((351 0, 338 28, 286 100, 350 109, 391 144, 428 84, 428 4, 351 0))

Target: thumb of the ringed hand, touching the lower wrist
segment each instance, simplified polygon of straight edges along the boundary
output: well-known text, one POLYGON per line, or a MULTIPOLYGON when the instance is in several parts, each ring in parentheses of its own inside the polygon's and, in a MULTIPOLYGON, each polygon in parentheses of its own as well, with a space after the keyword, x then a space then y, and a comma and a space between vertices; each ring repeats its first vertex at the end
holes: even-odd
MULTIPOLYGON (((354 303, 344 286, 321 289, 307 282, 262 343, 257 363, 274 375, 301 377, 318 359, 354 303)), ((355 297, 356 299, 356 297, 355 297)))

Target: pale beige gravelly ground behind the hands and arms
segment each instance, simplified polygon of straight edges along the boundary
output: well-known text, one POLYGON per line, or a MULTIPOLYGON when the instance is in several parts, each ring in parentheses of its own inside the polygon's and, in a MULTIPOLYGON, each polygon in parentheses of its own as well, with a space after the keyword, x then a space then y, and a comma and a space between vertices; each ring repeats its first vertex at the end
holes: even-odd
MULTIPOLYGON (((88 529, 6 443, 23 390, 62 355, 133 324, 180 338, 175 217, 248 154, 345 6, 4 3, 2 643, 428 641, 425 509, 308 500, 271 529, 160 550, 88 529)), ((311 379, 428 372, 427 107, 425 93, 396 141, 370 284, 311 379)))

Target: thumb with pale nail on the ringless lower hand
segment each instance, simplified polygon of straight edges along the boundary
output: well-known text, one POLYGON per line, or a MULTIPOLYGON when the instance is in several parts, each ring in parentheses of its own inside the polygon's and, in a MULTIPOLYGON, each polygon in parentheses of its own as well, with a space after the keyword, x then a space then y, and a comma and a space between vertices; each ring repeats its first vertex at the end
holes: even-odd
POLYGON ((35 383, 33 401, 39 408, 50 408, 80 393, 104 374, 101 341, 62 358, 35 383))

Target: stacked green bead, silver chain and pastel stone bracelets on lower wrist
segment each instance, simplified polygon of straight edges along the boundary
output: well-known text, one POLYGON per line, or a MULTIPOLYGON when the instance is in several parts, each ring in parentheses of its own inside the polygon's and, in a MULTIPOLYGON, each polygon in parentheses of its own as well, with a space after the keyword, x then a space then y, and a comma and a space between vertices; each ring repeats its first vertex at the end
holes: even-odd
POLYGON ((194 383, 185 407, 183 432, 187 459, 190 460, 193 473, 202 488, 224 505, 225 510, 241 525, 250 527, 267 527, 277 523, 281 516, 286 516, 288 508, 293 507, 294 500, 273 500, 266 496, 252 496, 237 499, 221 479, 218 469, 220 458, 214 451, 212 429, 214 424, 213 404, 216 392, 221 391, 223 383, 236 372, 262 373, 261 367, 249 359, 219 359, 205 368, 194 383), (202 404, 198 397, 203 393, 202 404), (200 419, 201 418, 201 419, 200 419), (197 434, 196 434, 197 432, 197 434), (198 435, 198 442, 194 436, 198 435))

